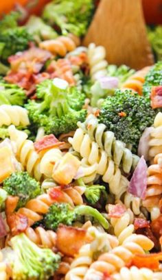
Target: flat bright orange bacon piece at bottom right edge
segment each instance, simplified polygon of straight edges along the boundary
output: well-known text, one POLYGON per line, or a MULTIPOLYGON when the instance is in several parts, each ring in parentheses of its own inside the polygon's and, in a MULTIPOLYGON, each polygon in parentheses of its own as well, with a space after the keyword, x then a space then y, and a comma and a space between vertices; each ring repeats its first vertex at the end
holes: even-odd
POLYGON ((159 262, 162 261, 162 253, 153 253, 149 255, 135 255, 132 257, 130 266, 137 266, 137 268, 150 268, 157 270, 159 262))

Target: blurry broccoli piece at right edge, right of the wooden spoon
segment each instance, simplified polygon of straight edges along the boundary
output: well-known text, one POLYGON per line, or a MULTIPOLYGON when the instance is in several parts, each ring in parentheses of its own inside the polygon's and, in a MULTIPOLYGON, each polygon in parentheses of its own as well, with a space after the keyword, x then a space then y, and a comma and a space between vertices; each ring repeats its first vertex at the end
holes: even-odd
POLYGON ((162 60, 162 25, 157 25, 153 29, 148 27, 148 40, 157 61, 162 60))

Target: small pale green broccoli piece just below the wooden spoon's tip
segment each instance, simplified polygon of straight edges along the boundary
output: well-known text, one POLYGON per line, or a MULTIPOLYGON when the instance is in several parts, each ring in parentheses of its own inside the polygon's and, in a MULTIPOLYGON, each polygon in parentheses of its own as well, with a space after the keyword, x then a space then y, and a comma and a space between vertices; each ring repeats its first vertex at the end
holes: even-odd
POLYGON ((108 76, 117 77, 119 79, 119 86, 121 86, 128 77, 135 73, 134 69, 129 68, 126 65, 121 65, 117 67, 116 65, 108 65, 108 76))

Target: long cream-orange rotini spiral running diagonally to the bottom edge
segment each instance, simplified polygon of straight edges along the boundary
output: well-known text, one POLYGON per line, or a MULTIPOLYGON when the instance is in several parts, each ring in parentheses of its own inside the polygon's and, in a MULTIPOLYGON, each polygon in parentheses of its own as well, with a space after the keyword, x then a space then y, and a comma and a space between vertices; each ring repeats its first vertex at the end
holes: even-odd
POLYGON ((130 262, 134 254, 145 254, 150 251, 154 243, 146 236, 132 234, 128 236, 122 246, 115 247, 111 252, 100 255, 96 262, 91 264, 84 280, 103 279, 104 273, 110 275, 120 270, 130 262))

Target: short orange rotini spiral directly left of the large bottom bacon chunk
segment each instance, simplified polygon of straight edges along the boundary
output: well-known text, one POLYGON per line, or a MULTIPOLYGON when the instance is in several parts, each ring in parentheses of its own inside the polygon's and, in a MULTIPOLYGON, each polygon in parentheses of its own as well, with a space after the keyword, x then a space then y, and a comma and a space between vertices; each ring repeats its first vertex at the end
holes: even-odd
POLYGON ((25 231, 26 236, 36 245, 43 248, 54 248, 56 245, 56 233, 54 231, 45 231, 43 227, 28 227, 25 231))

